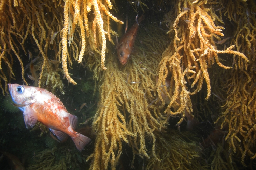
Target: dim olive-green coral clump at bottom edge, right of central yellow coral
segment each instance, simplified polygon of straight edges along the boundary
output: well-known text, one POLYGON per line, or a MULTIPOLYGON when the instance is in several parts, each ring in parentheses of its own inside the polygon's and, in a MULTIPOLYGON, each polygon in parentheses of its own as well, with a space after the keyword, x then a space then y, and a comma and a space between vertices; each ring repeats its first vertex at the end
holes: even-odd
POLYGON ((200 157, 201 148, 194 142, 195 135, 169 129, 168 133, 156 133, 155 152, 158 161, 151 152, 146 169, 175 170, 175 169, 207 169, 200 157))

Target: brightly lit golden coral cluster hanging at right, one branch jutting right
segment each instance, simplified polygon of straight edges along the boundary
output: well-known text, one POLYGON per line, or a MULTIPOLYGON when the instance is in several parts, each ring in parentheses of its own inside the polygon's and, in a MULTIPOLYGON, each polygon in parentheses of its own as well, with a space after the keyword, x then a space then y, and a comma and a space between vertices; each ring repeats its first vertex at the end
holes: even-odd
MULTIPOLYGON (((220 37, 224 36, 222 33, 224 28, 215 25, 214 20, 222 21, 210 6, 207 8, 208 4, 212 4, 212 1, 179 0, 177 2, 177 14, 174 14, 177 17, 173 22, 173 29, 168 32, 174 34, 174 39, 163 53, 159 64, 157 91, 158 94, 162 94, 161 101, 168 104, 165 113, 182 114, 183 117, 191 113, 193 110, 190 95, 202 89, 203 80, 207 84, 206 99, 209 99, 211 85, 208 67, 216 62, 224 69, 232 68, 232 66, 224 66, 218 54, 233 54, 248 62, 243 53, 233 50, 234 45, 224 51, 217 50, 215 41, 220 41, 220 37), (170 85, 164 86, 166 83, 170 85), (194 90, 189 91, 188 87, 194 90)), ((170 12, 168 15, 173 14, 170 12)), ((181 121, 183 118, 178 124, 181 121)))

